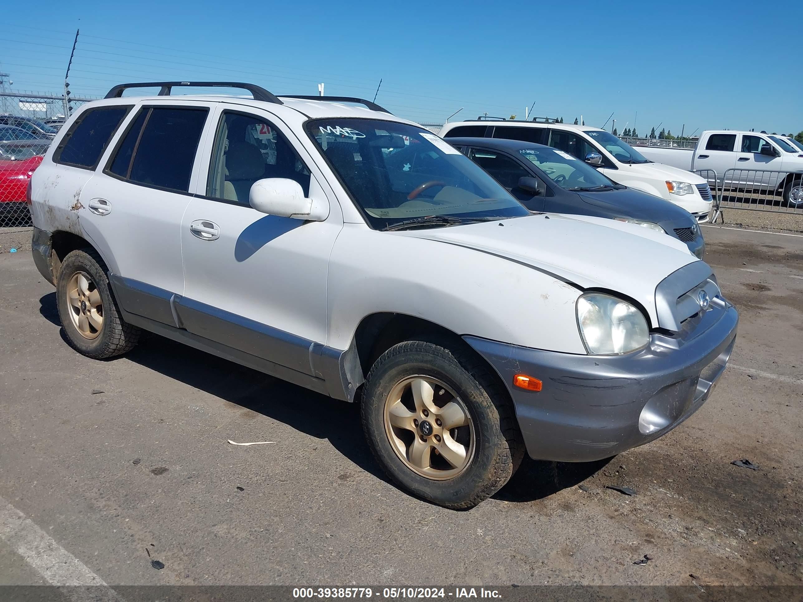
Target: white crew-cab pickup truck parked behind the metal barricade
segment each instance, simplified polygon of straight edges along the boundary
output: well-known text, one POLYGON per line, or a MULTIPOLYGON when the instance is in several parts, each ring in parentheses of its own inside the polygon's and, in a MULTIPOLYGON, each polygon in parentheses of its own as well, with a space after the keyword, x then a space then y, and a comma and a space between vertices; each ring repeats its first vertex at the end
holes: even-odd
POLYGON ((714 172, 725 188, 747 186, 782 193, 790 207, 803 207, 803 151, 783 136, 707 130, 695 148, 638 146, 638 151, 650 161, 695 171, 709 181, 714 180, 714 172))

